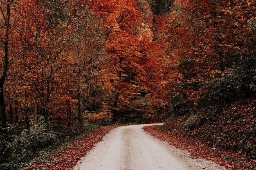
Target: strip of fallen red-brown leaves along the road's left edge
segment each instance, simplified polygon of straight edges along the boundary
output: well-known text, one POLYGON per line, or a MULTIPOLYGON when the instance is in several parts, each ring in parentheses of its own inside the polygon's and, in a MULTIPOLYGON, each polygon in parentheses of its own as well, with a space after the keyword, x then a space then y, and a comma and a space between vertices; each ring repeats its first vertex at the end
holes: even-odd
POLYGON ((64 146, 56 153, 49 156, 47 161, 41 161, 26 168, 27 170, 72 170, 76 163, 90 151, 95 144, 112 129, 117 126, 109 126, 92 130, 86 137, 81 137, 69 146, 64 146))

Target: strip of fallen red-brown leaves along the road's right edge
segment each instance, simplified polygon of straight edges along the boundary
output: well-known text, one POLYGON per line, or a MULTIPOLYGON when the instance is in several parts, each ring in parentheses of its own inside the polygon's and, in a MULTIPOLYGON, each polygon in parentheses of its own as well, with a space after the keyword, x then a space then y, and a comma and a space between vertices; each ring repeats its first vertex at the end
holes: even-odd
POLYGON ((207 144, 204 144, 199 140, 182 137, 174 133, 168 134, 167 132, 160 131, 160 128, 157 126, 145 126, 143 129, 176 148, 190 152, 193 157, 214 161, 220 164, 220 166, 227 168, 227 170, 255 170, 254 165, 256 164, 256 160, 243 160, 244 164, 238 164, 235 161, 243 158, 237 157, 237 155, 225 150, 210 148, 207 144))

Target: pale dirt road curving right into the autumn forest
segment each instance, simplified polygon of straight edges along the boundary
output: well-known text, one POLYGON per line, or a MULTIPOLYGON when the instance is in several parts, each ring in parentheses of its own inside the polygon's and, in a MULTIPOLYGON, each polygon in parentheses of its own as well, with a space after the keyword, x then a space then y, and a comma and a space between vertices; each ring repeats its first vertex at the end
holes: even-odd
MULTIPOLYGON (((191 155, 148 135, 147 125, 112 130, 74 170, 224 170, 216 163, 191 155)), ((154 124, 159 125, 159 124, 154 124)))

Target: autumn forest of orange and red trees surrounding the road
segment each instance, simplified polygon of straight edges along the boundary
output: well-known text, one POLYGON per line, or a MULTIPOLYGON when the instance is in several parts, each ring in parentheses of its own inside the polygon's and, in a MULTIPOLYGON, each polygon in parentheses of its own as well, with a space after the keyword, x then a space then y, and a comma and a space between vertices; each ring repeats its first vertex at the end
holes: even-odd
POLYGON ((0 0, 0 169, 153 122, 251 165, 255 54, 254 0, 0 0))

